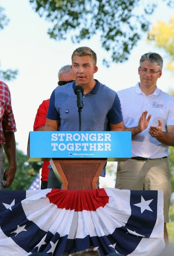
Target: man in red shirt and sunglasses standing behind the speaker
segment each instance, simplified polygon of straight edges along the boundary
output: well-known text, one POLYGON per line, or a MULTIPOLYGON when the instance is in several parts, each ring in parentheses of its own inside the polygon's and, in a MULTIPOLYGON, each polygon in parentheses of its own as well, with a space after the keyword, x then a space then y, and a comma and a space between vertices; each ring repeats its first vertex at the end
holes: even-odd
MULTIPOLYGON (((63 86, 68 82, 72 82, 74 80, 71 65, 63 66, 58 72, 58 86, 63 86)), ((45 131, 45 123, 46 123, 46 115, 48 112, 50 99, 44 100, 37 110, 37 114, 34 121, 33 131, 45 131)), ((48 185, 48 174, 49 168, 48 165, 50 163, 45 161, 42 165, 41 169, 41 189, 47 188, 48 185)))

